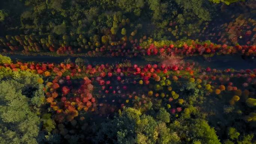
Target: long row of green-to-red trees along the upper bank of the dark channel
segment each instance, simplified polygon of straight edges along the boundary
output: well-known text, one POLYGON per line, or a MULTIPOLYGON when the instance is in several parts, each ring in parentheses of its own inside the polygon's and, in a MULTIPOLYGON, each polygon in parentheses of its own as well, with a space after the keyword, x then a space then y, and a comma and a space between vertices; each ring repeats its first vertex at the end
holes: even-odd
MULTIPOLYGON (((77 38, 77 41, 82 39, 83 35, 79 35, 77 38)), ((205 42, 197 42, 194 40, 187 40, 187 41, 159 41, 159 42, 153 42, 152 39, 148 38, 146 40, 146 36, 143 38, 141 43, 136 44, 137 41, 132 42, 133 45, 131 48, 128 48, 126 42, 124 42, 122 45, 118 46, 107 46, 98 45, 98 48, 94 49, 91 42, 87 43, 87 40, 84 39, 85 43, 88 45, 85 45, 85 49, 82 49, 81 47, 77 47, 77 45, 72 46, 68 45, 66 42, 68 42, 70 39, 76 39, 74 36, 63 36, 63 40, 56 40, 53 36, 48 36, 48 42, 46 42, 45 39, 41 39, 40 42, 36 42, 39 38, 36 38, 36 36, 30 35, 28 36, 6 36, 7 40, 10 40, 11 43, 6 42, 7 40, 1 39, 1 46, 3 52, 8 52, 7 48, 11 50, 11 52, 15 51, 21 51, 24 53, 27 53, 29 51, 34 52, 57 52, 58 55, 60 54, 74 54, 74 53, 87 53, 86 55, 92 56, 96 53, 99 53, 100 55, 109 55, 109 56, 145 56, 145 55, 160 55, 160 56, 171 56, 171 55, 212 55, 212 54, 234 54, 239 53, 242 55, 256 55, 256 46, 247 46, 247 45, 236 45, 236 46, 228 46, 228 45, 217 45, 214 43, 211 43, 210 41, 205 42), (23 37, 23 38, 22 38, 23 37), (73 38, 72 38, 73 37, 73 38), (19 43, 14 43, 14 41, 19 41, 19 43), (29 43, 26 43, 28 42, 29 43), (25 43, 24 43, 25 42, 25 43), (65 45, 62 45, 66 43, 65 45), (92 46, 92 49, 89 49, 89 46, 92 46), (22 47, 24 49, 22 49, 22 47), (74 48, 73 48, 74 47, 74 48), (44 50, 42 50, 44 49, 44 50), (87 50, 86 50, 87 49, 87 50)), ((81 44, 81 43, 79 43, 81 44)), ((83 45, 82 45, 83 46, 83 45)))

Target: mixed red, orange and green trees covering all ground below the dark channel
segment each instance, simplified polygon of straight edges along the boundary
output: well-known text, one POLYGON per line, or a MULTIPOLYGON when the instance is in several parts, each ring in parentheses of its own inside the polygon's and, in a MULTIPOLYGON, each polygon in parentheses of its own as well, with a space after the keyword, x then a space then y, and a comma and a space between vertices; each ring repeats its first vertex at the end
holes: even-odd
MULTIPOLYGON (((26 99, 41 143, 254 143, 255 69, 8 61, 0 70, 3 101, 26 99)), ((18 122, 8 118, 16 106, 1 107, 3 122, 18 122)), ((14 135, 1 139, 14 143, 14 135)))

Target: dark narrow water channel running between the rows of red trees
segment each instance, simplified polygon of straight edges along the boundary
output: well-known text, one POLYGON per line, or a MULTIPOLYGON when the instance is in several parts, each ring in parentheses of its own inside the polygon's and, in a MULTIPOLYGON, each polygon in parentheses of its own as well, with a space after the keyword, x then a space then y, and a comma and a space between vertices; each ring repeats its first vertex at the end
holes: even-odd
MULTIPOLYGON (((22 60, 24 62, 37 61, 37 62, 64 62, 65 59, 70 58, 71 61, 75 61, 77 57, 72 56, 25 56, 25 55, 7 55, 13 61, 22 60)), ((124 57, 79 57, 85 59, 89 64, 117 64, 128 60, 131 64, 146 65, 146 64, 158 64, 159 62, 147 61, 141 57, 135 58, 124 58, 124 57)), ((220 70, 227 68, 234 68, 235 70, 240 69, 253 69, 256 68, 256 60, 254 57, 244 58, 241 55, 214 55, 211 58, 204 58, 203 56, 190 56, 184 58, 185 62, 195 62, 196 65, 200 65, 202 68, 210 67, 220 70)))

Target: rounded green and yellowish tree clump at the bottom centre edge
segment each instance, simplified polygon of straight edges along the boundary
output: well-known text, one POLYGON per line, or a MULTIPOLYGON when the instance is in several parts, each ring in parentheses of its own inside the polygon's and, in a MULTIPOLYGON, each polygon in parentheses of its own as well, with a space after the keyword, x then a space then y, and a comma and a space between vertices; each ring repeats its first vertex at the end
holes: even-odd
POLYGON ((170 132, 164 122, 141 114, 134 108, 125 108, 115 119, 102 124, 96 143, 111 141, 114 144, 177 144, 175 132, 170 132))

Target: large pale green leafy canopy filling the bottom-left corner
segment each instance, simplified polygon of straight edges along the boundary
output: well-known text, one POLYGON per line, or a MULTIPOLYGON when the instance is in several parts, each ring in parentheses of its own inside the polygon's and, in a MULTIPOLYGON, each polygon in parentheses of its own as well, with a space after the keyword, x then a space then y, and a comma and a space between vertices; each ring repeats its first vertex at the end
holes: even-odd
POLYGON ((21 94, 24 85, 14 80, 0 83, 1 144, 37 144, 40 118, 30 109, 29 99, 21 94))

